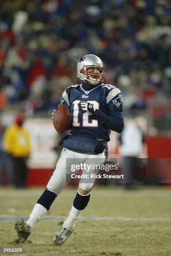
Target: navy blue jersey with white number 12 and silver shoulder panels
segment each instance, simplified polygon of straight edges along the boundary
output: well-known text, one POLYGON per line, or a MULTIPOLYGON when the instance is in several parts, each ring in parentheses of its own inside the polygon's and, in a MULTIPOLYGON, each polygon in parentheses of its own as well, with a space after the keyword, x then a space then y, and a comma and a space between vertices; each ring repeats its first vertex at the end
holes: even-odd
POLYGON ((110 141, 110 129, 98 118, 79 110, 78 103, 80 100, 89 102, 94 110, 98 109, 102 115, 117 118, 119 114, 122 119, 123 95, 118 88, 110 84, 100 83, 94 87, 90 85, 92 89, 87 91, 84 90, 84 84, 87 83, 70 86, 61 97, 61 105, 66 105, 71 115, 70 134, 110 141))

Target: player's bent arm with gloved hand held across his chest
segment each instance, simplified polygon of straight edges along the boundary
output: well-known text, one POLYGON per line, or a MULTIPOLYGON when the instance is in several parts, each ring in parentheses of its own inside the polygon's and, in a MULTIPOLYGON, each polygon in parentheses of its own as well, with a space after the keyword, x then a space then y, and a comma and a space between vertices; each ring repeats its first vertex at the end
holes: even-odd
POLYGON ((94 110, 89 102, 80 101, 78 107, 93 115, 106 128, 121 133, 124 127, 123 95, 118 88, 112 89, 107 95, 108 115, 100 110, 94 110))

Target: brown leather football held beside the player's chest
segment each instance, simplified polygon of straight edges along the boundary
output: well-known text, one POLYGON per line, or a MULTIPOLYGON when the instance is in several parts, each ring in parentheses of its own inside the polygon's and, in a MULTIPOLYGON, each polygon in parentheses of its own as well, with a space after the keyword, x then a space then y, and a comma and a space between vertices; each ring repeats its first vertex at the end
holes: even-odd
POLYGON ((59 105, 54 113, 53 124, 58 133, 63 133, 71 122, 69 110, 65 105, 59 105))

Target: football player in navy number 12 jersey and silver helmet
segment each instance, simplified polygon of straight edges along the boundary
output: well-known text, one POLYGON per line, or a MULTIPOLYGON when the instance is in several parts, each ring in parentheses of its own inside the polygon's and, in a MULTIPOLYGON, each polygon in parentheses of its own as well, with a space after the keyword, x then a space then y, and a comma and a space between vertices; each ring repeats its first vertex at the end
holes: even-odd
MULTIPOLYGON (((83 56, 77 64, 77 76, 82 84, 70 86, 61 97, 61 104, 69 109, 71 124, 69 136, 60 141, 63 151, 56 169, 30 218, 26 223, 20 218, 15 222, 21 242, 26 241, 36 223, 47 213, 56 196, 66 186, 66 159, 76 159, 78 164, 91 163, 92 159, 95 164, 104 163, 107 160, 110 131, 123 131, 123 96, 115 86, 103 83, 105 69, 101 59, 92 54, 83 56)), ((82 171, 86 173, 84 169, 82 171)), ((73 232, 79 216, 89 202, 94 181, 85 182, 85 179, 80 179, 69 216, 54 237, 55 245, 64 243, 73 232)))

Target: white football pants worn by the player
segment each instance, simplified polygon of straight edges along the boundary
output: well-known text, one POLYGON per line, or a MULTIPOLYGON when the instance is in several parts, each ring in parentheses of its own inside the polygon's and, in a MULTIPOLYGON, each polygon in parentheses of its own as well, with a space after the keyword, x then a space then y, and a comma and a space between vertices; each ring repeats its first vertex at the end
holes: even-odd
MULTIPOLYGON (((61 156, 56 164, 56 169, 54 170, 54 173, 52 174, 51 178, 48 181, 47 189, 51 192, 54 192, 56 195, 59 195, 59 193, 62 191, 62 189, 66 186, 66 184, 69 182, 66 179, 66 173, 74 173, 77 174, 79 170, 76 172, 71 172, 71 164, 87 164, 87 165, 96 165, 96 164, 104 164, 105 162, 105 151, 100 154, 85 154, 85 153, 77 153, 74 151, 69 150, 68 148, 63 148, 63 151, 61 153, 61 156)), ((97 170, 94 170, 94 168, 91 168, 89 172, 87 170, 83 169, 82 174, 93 174, 98 173, 97 170)), ((80 179, 79 181, 79 188, 84 189, 86 191, 90 191, 93 187, 93 184, 95 182, 94 179, 80 179)))

